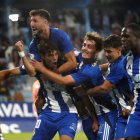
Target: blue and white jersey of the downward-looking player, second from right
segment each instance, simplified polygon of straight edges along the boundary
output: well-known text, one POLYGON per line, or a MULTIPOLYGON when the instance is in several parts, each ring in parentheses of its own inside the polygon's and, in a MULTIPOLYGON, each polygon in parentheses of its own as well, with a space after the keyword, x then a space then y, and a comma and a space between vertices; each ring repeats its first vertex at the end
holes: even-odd
POLYGON ((132 95, 132 82, 124 66, 124 57, 121 56, 108 68, 106 80, 115 85, 114 96, 121 109, 129 105, 132 95))

